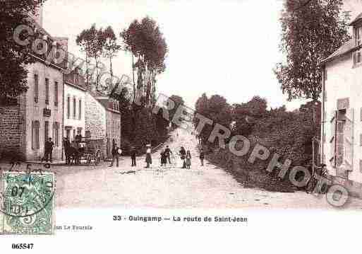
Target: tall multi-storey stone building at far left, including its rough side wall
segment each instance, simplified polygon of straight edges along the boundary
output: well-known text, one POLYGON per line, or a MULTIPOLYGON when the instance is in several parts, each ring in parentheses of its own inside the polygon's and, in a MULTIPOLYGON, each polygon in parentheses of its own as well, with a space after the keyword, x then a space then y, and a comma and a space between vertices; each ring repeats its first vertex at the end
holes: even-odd
POLYGON ((39 160, 44 156, 45 140, 52 137, 55 144, 53 159, 60 159, 65 63, 46 62, 52 47, 59 48, 59 45, 56 38, 42 28, 42 8, 34 22, 45 53, 31 54, 36 62, 26 67, 28 91, 9 103, 2 102, 1 154, 16 155, 28 161, 39 160))

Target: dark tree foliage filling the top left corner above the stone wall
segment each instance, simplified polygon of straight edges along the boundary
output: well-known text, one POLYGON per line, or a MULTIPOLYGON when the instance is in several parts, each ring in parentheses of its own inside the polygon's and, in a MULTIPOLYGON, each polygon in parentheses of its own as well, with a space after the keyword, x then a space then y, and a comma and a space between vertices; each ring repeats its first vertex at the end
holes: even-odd
POLYGON ((30 47, 18 45, 13 40, 18 25, 33 27, 28 14, 35 14, 45 0, 0 1, 0 100, 16 97, 28 90, 25 64, 35 62, 29 54, 30 47))

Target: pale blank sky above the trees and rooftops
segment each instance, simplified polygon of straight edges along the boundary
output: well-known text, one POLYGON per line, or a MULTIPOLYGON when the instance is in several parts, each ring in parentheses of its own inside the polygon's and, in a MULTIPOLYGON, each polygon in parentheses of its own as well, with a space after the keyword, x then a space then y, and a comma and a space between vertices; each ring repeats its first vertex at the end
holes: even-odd
MULTIPOLYGON (((219 94, 228 103, 246 103, 253 96, 272 108, 299 108, 303 100, 287 102, 273 68, 279 52, 282 0, 47 0, 44 28, 68 37, 68 50, 79 57, 76 36, 92 23, 111 25, 116 35, 136 18, 157 21, 169 53, 157 92, 183 97, 194 108, 203 94, 219 94)), ((119 40, 121 42, 121 39, 119 40)), ((103 59, 107 63, 107 59, 103 59)), ((131 56, 119 52, 114 74, 131 74, 131 56)))

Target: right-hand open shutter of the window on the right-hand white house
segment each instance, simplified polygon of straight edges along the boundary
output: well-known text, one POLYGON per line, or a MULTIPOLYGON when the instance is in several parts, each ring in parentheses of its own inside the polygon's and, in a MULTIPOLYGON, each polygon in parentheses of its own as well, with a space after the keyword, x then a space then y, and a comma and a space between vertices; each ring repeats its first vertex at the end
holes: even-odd
POLYGON ((346 110, 346 123, 344 127, 344 162, 353 168, 354 156, 354 109, 348 108, 346 110))

